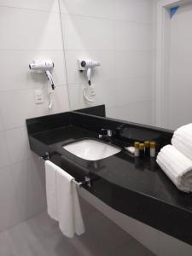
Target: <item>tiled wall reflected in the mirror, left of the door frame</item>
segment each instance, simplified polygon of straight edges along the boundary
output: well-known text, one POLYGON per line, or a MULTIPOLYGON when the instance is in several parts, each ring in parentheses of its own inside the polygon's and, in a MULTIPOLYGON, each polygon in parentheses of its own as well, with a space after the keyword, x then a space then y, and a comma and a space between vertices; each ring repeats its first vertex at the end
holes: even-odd
POLYGON ((72 109, 105 103, 109 117, 151 124, 153 119, 152 0, 60 0, 72 109), (84 101, 81 57, 101 61, 95 103, 84 101))

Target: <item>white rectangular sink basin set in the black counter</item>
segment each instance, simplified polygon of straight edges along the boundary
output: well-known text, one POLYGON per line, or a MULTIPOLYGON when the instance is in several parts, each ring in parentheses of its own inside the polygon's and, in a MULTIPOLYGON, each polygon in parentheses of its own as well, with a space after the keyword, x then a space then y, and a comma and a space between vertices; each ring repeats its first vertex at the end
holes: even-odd
POLYGON ((84 160, 101 160, 121 151, 121 148, 93 139, 70 143, 63 148, 84 160))

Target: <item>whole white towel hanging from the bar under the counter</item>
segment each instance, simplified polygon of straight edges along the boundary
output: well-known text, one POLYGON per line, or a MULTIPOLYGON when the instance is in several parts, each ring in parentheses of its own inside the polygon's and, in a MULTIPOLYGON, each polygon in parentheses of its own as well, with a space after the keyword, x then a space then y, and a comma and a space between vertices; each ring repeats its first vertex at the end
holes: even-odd
POLYGON ((84 233, 84 221, 74 178, 49 160, 45 161, 48 213, 59 222, 63 235, 84 233))

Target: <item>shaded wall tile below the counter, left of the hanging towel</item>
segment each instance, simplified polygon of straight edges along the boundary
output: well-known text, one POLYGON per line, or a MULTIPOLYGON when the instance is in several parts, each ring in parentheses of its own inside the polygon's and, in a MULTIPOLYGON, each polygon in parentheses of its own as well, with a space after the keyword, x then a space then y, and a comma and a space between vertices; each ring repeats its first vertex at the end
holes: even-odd
POLYGON ((44 169, 41 167, 34 156, 11 166, 20 219, 30 218, 46 208, 44 169))

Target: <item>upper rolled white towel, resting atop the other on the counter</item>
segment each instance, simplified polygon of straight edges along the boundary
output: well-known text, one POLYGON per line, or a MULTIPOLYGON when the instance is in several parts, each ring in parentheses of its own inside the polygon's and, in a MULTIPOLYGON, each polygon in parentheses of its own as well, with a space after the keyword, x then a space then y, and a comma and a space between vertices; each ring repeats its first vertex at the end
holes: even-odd
POLYGON ((192 160, 192 124, 183 125, 174 132, 172 145, 192 160))

